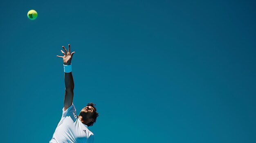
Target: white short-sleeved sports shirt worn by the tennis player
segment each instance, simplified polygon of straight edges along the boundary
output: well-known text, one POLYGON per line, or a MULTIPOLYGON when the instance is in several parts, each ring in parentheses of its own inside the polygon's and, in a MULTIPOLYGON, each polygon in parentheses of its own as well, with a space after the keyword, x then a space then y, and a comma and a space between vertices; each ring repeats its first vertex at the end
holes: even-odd
POLYGON ((66 111, 63 108, 61 121, 49 143, 93 143, 93 141, 94 134, 77 118, 73 103, 66 111))

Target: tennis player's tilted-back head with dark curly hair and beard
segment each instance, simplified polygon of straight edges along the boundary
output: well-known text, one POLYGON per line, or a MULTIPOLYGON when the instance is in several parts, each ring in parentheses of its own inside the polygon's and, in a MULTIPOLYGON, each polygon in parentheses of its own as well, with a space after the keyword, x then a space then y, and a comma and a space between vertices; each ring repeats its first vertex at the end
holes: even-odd
POLYGON ((95 106, 96 104, 94 103, 88 103, 87 106, 85 106, 85 108, 83 108, 79 113, 79 116, 82 116, 83 120, 88 121, 86 124, 88 127, 92 126, 96 122, 97 117, 99 117, 95 106))

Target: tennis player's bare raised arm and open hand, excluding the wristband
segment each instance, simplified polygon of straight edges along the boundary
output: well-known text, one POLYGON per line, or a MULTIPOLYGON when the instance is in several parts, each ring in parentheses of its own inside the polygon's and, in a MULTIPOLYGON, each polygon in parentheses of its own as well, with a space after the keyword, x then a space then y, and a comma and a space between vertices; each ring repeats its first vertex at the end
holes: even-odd
MULTIPOLYGON (((70 54, 70 44, 68 44, 68 51, 65 49, 64 46, 62 48, 65 50, 66 54, 61 50, 61 53, 63 53, 63 56, 58 56, 63 58, 63 64, 65 66, 71 66, 71 60, 73 57, 73 54, 75 52, 72 52, 70 54)), ((66 73, 64 72, 64 79, 65 79, 65 97, 64 97, 64 111, 67 110, 72 105, 73 97, 74 97, 74 80, 72 76, 72 72, 66 73)))

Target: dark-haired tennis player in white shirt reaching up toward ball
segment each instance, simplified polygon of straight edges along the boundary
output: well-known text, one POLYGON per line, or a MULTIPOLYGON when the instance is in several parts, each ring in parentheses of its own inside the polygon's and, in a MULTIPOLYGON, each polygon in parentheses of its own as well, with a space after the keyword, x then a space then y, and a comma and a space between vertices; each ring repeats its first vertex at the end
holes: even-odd
POLYGON ((70 44, 68 44, 68 51, 65 50, 63 56, 64 64, 64 79, 65 79, 65 97, 64 108, 62 109, 61 121, 52 136, 49 143, 93 143, 94 134, 88 130, 88 126, 92 126, 96 122, 99 114, 96 112, 95 105, 88 103, 85 108, 76 116, 76 108, 73 105, 74 96, 74 81, 72 77, 71 60, 75 52, 70 54, 70 44))

